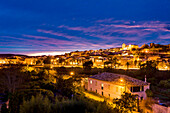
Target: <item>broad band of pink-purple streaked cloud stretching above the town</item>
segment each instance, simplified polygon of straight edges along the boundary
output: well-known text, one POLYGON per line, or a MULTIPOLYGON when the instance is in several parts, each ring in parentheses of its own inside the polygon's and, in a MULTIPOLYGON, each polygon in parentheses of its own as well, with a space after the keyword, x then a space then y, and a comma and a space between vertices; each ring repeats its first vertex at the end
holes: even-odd
POLYGON ((151 42, 167 43, 170 39, 169 30, 169 25, 161 21, 105 19, 86 26, 45 24, 36 28, 34 34, 0 36, 0 45, 4 51, 10 46, 13 48, 11 51, 34 52, 113 48, 123 42, 141 45, 151 42))

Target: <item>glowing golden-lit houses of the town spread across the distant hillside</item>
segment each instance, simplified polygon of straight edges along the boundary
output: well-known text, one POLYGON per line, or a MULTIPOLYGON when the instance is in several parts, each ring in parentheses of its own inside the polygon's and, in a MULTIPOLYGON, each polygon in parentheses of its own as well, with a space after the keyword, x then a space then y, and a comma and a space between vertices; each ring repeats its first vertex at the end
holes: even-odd
MULTIPOLYGON (((26 64, 26 65, 43 65, 43 60, 47 56, 13 56, 0 58, 1 64, 26 64)), ((138 69, 140 64, 146 61, 156 61, 158 69, 170 69, 170 44, 160 45, 151 43, 150 45, 144 44, 141 47, 138 45, 122 44, 122 47, 99 49, 99 50, 86 50, 74 51, 65 53, 64 55, 51 56, 51 65, 58 66, 71 66, 82 67, 83 63, 91 60, 93 67, 104 68, 107 62, 113 68, 126 69, 127 62, 129 68, 138 69)))

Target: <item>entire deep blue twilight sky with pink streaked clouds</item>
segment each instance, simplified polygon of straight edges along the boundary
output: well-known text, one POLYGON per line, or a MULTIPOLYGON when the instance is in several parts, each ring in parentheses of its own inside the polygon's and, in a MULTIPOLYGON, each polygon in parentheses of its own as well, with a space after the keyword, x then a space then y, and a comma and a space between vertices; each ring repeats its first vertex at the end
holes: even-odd
POLYGON ((170 0, 0 0, 0 53, 170 44, 170 0))

